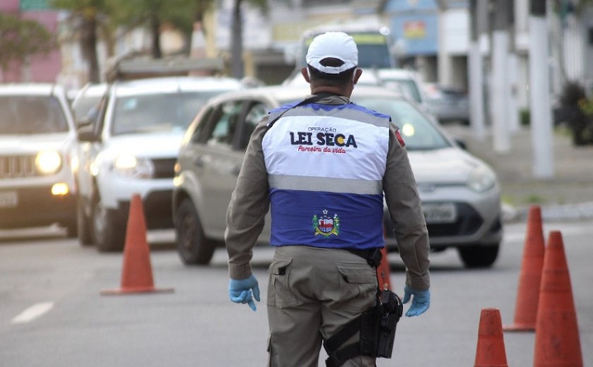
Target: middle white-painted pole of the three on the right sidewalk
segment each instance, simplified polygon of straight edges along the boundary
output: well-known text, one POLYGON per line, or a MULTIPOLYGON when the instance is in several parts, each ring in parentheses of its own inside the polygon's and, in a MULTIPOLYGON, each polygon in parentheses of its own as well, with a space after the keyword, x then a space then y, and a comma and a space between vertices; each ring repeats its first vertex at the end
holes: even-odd
POLYGON ((492 119, 493 148, 497 153, 510 150, 508 116, 508 23, 510 0, 496 0, 492 34, 492 119))

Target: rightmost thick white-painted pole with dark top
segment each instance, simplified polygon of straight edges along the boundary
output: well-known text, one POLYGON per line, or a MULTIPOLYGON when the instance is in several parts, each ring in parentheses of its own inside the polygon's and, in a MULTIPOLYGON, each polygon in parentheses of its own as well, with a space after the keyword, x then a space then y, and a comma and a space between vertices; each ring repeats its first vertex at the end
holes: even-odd
POLYGON ((553 139, 550 106, 548 22, 546 0, 529 3, 529 111, 533 149, 533 174, 553 177, 553 139))

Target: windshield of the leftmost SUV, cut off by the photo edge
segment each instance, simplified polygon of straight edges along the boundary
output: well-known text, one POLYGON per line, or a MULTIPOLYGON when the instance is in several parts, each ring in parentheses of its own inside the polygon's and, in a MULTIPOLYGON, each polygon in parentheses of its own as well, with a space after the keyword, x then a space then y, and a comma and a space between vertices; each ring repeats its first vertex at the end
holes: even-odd
POLYGON ((47 96, 0 96, 2 134, 64 133, 68 123, 60 102, 47 96))

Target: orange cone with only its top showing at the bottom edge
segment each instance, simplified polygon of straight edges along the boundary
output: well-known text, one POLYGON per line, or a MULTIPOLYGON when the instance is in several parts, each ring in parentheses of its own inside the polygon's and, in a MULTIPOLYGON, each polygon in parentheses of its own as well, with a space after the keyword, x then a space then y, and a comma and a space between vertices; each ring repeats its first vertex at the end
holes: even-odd
POLYGON ((474 367, 508 367, 501 312, 482 308, 474 367))

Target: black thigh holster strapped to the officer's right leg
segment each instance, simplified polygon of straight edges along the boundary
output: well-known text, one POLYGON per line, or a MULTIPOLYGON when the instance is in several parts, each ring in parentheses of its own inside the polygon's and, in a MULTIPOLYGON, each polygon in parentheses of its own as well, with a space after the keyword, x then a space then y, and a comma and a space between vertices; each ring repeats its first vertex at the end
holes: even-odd
POLYGON ((393 291, 381 291, 376 306, 364 311, 323 342, 323 348, 328 353, 325 366, 342 366, 355 356, 391 358, 395 328, 402 313, 400 297, 393 291), (342 347, 356 332, 360 332, 359 342, 342 347))

